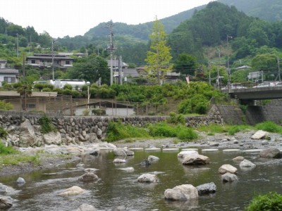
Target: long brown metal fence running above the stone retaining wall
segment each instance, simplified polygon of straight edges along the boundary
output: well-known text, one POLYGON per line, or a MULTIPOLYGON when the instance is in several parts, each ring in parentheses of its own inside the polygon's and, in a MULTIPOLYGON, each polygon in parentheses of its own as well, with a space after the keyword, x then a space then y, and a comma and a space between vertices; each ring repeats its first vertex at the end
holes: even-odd
POLYGON ((129 101, 114 101, 113 99, 72 98, 71 96, 0 98, 1 101, 11 103, 13 111, 44 112, 61 115, 97 115, 93 110, 105 110, 106 115, 168 115, 176 111, 177 103, 140 103, 129 101))

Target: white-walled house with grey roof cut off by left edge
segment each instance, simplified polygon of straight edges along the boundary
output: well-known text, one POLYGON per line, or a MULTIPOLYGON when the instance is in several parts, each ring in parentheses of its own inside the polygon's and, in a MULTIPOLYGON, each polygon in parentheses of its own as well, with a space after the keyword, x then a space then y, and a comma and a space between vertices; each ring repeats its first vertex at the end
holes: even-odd
POLYGON ((0 59, 0 87, 2 82, 16 83, 18 82, 18 70, 6 68, 7 61, 0 59))

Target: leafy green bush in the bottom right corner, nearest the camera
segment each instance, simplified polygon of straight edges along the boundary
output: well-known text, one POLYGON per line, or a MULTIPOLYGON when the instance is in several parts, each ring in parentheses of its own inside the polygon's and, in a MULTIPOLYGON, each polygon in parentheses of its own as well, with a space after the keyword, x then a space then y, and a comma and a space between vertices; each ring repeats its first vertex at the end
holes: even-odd
POLYGON ((256 196, 245 208, 246 211, 259 210, 282 210, 282 196, 276 192, 269 192, 265 195, 256 196))

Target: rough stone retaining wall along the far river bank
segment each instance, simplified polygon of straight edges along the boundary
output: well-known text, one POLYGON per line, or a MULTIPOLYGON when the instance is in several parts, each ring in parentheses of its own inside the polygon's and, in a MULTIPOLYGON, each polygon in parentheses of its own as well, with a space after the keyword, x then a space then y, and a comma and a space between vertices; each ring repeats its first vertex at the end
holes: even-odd
MULTIPOLYGON (((164 116, 126 116, 126 117, 63 117, 49 115, 57 132, 42 134, 39 118, 42 113, 0 112, 0 126, 8 130, 5 140, 8 145, 28 147, 43 144, 80 144, 103 141, 106 137, 109 122, 121 121, 143 127, 145 124, 163 122, 164 116)), ((197 127, 200 124, 223 124, 219 110, 214 106, 207 116, 186 118, 187 127, 197 127)))

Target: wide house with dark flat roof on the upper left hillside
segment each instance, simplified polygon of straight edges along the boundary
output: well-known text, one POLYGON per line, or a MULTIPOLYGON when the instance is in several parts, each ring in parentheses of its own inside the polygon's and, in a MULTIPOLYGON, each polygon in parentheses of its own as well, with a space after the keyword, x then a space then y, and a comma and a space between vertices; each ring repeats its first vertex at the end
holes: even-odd
POLYGON ((33 56, 27 56, 27 65, 37 68, 51 68, 52 61, 54 61, 54 68, 63 70, 73 67, 73 60, 66 54, 34 53, 33 56))

